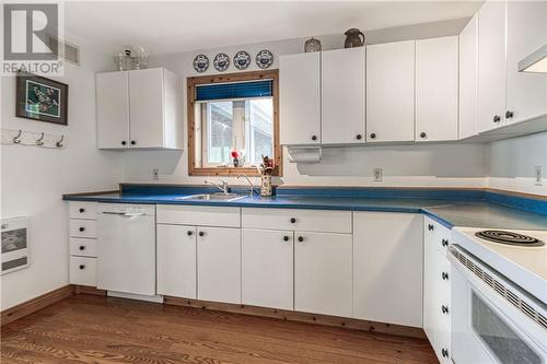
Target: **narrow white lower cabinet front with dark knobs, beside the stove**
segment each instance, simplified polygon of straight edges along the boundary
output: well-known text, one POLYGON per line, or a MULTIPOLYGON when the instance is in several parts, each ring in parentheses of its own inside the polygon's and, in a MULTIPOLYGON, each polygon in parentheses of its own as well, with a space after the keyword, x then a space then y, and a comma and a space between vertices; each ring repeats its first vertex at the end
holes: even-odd
POLYGON ((430 218, 423 224, 423 331, 441 363, 451 363, 450 230, 430 218))

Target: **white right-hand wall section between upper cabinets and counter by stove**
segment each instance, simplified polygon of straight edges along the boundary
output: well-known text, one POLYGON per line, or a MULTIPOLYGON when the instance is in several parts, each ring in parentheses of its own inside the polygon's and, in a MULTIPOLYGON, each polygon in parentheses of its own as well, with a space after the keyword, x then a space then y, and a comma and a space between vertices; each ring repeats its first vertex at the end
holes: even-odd
POLYGON ((547 132, 493 142, 489 154, 489 187, 547 196, 547 132), (543 166, 542 186, 535 166, 543 166))

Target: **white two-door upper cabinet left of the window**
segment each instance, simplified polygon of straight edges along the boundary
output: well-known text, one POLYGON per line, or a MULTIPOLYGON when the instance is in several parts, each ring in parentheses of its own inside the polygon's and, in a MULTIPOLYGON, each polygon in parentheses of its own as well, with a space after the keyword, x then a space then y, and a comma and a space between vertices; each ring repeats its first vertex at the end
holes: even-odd
POLYGON ((176 75, 163 68, 97 74, 100 149, 182 149, 176 75))

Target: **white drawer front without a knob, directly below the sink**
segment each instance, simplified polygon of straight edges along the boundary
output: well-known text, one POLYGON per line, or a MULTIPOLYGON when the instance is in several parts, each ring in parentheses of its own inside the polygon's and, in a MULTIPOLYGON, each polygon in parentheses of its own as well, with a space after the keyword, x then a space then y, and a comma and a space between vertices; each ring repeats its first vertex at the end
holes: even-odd
POLYGON ((166 206, 156 208, 159 224, 240 227, 240 208, 166 206))

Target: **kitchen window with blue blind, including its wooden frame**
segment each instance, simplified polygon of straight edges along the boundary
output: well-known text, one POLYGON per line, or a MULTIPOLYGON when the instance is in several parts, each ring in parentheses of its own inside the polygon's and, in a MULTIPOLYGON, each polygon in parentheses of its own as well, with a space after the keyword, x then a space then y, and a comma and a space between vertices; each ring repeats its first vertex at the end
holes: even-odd
POLYGON ((267 155, 279 175, 277 109, 277 70, 189 78, 189 174, 257 175, 267 155))

